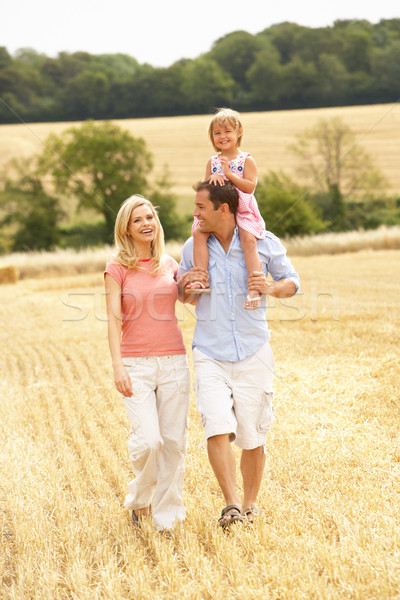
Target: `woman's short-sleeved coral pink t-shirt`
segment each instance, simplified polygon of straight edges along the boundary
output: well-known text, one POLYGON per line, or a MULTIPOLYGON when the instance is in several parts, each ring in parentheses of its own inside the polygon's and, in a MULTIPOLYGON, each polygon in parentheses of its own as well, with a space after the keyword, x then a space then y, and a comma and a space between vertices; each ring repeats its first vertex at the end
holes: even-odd
POLYGON ((186 354, 175 315, 178 263, 164 255, 157 275, 151 274, 151 260, 139 266, 132 270, 110 262, 104 272, 121 286, 121 355, 186 354))

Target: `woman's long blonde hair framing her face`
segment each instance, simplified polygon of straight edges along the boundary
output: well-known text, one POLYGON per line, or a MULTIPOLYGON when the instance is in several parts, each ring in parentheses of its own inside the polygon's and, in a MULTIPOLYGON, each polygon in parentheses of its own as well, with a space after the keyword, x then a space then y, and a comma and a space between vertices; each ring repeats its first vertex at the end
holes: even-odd
POLYGON ((164 252, 164 231, 158 218, 154 206, 143 196, 136 194, 131 196, 121 205, 115 220, 114 239, 117 248, 115 259, 127 269, 139 269, 139 257, 135 245, 129 235, 129 225, 132 212, 139 206, 147 206, 151 211, 156 222, 156 232, 154 240, 151 243, 151 256, 153 274, 156 275, 161 267, 161 258, 164 252))

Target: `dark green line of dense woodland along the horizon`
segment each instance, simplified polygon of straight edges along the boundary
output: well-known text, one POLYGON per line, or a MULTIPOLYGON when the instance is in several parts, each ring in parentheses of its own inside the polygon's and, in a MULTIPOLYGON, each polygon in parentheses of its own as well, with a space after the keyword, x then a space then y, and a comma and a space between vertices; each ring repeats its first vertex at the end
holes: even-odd
POLYGON ((0 48, 0 123, 204 114, 394 102, 400 19, 284 22, 235 31, 196 59, 156 68, 125 54, 0 48))

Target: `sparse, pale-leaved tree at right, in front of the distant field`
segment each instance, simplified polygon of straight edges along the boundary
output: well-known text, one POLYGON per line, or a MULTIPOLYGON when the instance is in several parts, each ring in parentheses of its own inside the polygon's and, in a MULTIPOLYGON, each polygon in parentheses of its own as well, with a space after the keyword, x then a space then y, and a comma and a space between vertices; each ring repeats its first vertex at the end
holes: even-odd
POLYGON ((325 196, 324 217, 333 228, 344 223, 344 200, 382 196, 387 181, 341 119, 322 119, 297 136, 289 149, 300 158, 299 173, 325 196))

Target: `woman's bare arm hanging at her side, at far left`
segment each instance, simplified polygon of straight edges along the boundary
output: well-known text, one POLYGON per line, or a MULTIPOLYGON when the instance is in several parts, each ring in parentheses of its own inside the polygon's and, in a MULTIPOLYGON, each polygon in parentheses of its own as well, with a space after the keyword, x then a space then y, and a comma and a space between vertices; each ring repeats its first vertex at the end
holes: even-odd
POLYGON ((121 357, 121 286, 106 273, 106 305, 108 317, 108 345, 110 348, 114 382, 117 390, 124 396, 132 396, 132 381, 122 363, 121 357))

